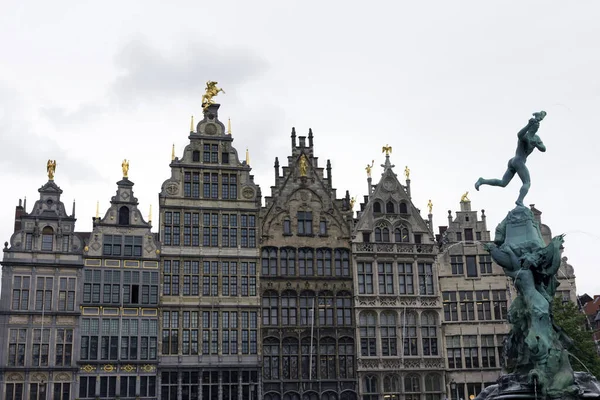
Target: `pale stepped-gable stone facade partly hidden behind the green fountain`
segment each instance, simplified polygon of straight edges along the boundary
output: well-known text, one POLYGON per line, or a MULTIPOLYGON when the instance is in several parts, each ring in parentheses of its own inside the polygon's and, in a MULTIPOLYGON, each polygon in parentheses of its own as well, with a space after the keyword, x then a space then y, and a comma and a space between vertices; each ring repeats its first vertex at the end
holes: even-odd
MULTIPOLYGON (((546 243, 550 228, 541 223, 541 212, 531 206, 546 243)), ((493 241, 481 215, 471 210, 470 201, 461 201, 455 217, 448 211, 448 226, 438 235, 440 292, 444 318, 450 399, 470 399, 501 374, 503 340, 510 331, 508 308, 516 297, 515 288, 502 268, 493 262, 484 244, 493 241)), ((576 301, 573 268, 566 257, 559 272, 557 296, 576 301), (563 289, 564 288, 564 289, 563 289)))

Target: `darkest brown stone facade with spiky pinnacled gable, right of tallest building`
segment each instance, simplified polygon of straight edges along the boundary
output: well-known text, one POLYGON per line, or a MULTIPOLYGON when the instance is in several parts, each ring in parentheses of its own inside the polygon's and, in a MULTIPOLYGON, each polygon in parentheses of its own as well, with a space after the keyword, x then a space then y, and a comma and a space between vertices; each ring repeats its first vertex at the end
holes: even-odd
POLYGON ((262 379, 265 400, 355 400, 350 261, 352 211, 313 134, 296 142, 261 210, 262 379))

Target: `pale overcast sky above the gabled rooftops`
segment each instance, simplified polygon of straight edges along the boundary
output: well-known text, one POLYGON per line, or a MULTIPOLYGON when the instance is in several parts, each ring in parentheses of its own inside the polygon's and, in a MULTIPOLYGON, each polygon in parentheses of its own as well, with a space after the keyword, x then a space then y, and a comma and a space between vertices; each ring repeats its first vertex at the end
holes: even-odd
MULTIPOLYGON (((469 191, 488 229, 514 207, 501 177, 516 133, 541 109, 548 151, 528 162, 534 203, 566 233, 578 293, 600 293, 600 3, 597 1, 11 1, 0 14, 0 238, 28 209, 56 159, 63 201, 90 230, 130 160, 143 210, 170 176, 171 145, 188 143, 207 80, 234 146, 250 150, 263 196, 290 131, 313 129, 342 196, 366 193, 365 166, 393 147, 412 171, 415 205, 447 225, 469 191)), ((373 177, 379 177, 380 167, 373 177)), ((358 205, 355 206, 358 209, 358 205)), ((156 228, 155 228, 156 229, 156 228)), ((437 229, 436 229, 437 230, 437 229)))

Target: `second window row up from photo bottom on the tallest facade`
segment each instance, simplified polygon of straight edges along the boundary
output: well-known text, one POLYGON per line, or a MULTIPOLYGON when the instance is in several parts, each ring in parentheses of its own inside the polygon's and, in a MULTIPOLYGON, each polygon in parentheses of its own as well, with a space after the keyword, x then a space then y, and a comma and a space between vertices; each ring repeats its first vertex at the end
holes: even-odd
POLYGON ((162 354, 257 354, 256 311, 163 311, 162 354))

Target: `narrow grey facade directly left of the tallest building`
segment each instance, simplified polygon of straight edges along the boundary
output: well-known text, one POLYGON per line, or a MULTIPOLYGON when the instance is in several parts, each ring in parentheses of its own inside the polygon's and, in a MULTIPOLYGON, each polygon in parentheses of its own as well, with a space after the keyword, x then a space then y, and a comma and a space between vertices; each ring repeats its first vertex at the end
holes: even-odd
POLYGON ((127 177, 110 204, 83 249, 77 397, 154 399, 160 248, 127 177))

